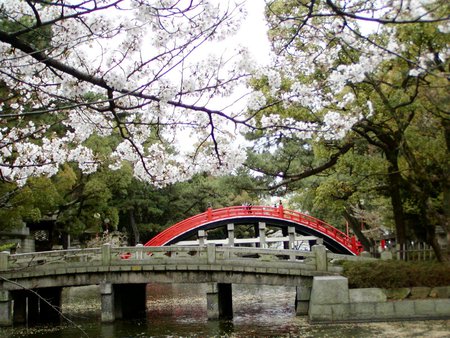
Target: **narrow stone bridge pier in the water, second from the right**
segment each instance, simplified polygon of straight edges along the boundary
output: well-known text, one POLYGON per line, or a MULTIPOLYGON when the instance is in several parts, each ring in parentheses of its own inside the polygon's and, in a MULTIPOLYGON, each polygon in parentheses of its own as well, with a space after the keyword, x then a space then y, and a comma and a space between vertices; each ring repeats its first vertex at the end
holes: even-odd
POLYGON ((206 294, 208 319, 233 318, 232 284, 210 283, 206 294))

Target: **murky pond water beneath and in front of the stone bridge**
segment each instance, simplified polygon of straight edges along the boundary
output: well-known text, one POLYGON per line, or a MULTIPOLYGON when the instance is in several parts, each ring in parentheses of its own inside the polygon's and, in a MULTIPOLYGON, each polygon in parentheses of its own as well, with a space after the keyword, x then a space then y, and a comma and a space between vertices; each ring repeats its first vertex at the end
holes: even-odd
POLYGON ((95 287, 64 291, 62 311, 76 323, 0 329, 0 337, 450 337, 450 320, 311 325, 294 312, 295 289, 233 285, 234 318, 208 321, 206 285, 150 284, 147 316, 100 323, 95 287))

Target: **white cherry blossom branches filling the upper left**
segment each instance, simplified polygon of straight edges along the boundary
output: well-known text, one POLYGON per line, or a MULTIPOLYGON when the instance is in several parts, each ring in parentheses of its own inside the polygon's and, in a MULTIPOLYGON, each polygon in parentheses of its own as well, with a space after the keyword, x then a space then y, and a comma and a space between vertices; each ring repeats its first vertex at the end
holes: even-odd
POLYGON ((245 80, 249 59, 205 50, 244 14, 232 1, 0 1, 1 178, 23 184, 65 162, 93 172, 85 141, 112 133, 111 168, 129 161, 155 185, 238 166, 242 108, 212 100, 245 80))

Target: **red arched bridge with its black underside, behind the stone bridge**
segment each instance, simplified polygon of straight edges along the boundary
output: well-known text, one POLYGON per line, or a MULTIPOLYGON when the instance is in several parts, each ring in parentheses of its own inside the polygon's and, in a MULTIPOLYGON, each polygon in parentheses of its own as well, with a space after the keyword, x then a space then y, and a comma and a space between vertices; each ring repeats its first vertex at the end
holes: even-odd
POLYGON ((252 224, 265 222, 268 226, 287 228, 295 227, 295 232, 302 235, 316 236, 323 239, 325 246, 332 252, 359 255, 361 243, 355 236, 348 236, 317 218, 283 206, 234 206, 221 209, 209 208, 206 212, 187 218, 156 235, 145 246, 172 245, 194 237, 199 230, 210 230, 233 224, 252 224))

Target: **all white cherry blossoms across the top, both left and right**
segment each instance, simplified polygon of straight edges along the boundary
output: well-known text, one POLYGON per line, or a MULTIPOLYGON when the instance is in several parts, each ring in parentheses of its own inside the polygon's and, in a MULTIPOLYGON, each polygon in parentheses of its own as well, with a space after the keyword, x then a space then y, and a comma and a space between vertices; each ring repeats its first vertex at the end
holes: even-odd
MULTIPOLYGON (((299 2, 289 17, 269 17, 277 54, 258 70, 245 46, 220 48, 246 15, 235 1, 0 0, 11 23, 0 28, 2 177, 23 184, 66 161, 91 173, 100 161, 87 147, 93 135, 120 135, 110 167, 129 161, 136 177, 157 185, 232 171, 245 160, 237 140, 249 130, 344 138, 374 114, 370 101, 355 105, 349 88, 407 58, 411 46, 386 23, 433 21, 435 3, 325 1, 310 12, 299 2), (361 24, 368 21, 370 29, 361 24), (251 74, 267 81, 266 91, 249 89, 251 74), (268 110, 272 102, 300 113, 283 117, 268 110)), ((438 23, 448 32, 448 22, 438 23)), ((409 75, 432 71, 448 54, 407 59, 409 75)))

